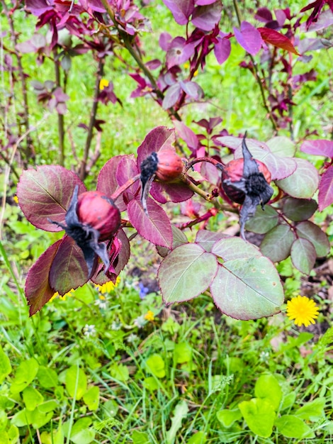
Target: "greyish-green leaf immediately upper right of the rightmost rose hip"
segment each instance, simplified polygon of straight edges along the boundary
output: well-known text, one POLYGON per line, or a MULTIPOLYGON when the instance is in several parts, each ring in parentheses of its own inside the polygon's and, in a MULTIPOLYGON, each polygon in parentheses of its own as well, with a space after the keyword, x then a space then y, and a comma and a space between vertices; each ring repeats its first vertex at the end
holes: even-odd
POLYGON ((286 179, 276 181, 276 185, 289 196, 299 199, 310 199, 319 184, 319 174, 315 167, 305 159, 294 158, 296 171, 286 179))

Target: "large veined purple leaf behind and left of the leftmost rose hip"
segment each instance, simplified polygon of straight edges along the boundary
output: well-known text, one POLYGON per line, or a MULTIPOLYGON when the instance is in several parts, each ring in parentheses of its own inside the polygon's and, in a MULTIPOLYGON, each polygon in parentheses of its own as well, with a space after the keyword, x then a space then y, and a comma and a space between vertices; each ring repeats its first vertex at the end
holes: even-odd
POLYGON ((19 205, 30 223, 45 231, 61 231, 52 221, 64 223, 74 188, 86 191, 77 174, 59 165, 43 165, 23 171, 18 182, 19 205))

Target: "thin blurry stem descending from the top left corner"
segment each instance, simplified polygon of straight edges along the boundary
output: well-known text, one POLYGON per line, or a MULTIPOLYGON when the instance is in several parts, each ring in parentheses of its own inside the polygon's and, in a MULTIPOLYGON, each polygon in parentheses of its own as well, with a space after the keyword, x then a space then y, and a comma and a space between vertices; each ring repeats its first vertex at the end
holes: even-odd
MULTIPOLYGON (((14 22, 13 22, 13 16, 11 13, 9 13, 9 10, 6 5, 6 1, 1 0, 1 4, 4 8, 4 13, 6 14, 6 18, 9 22, 9 26, 11 28, 11 38, 13 40, 14 47, 16 47, 17 42, 17 34, 14 28, 14 22)), ((23 96, 23 125, 26 128, 26 160, 25 163, 28 163, 28 159, 31 157, 31 155, 34 155, 33 153, 33 141, 30 136, 30 124, 29 124, 29 106, 28 106, 28 89, 26 84, 26 76, 23 72, 23 65, 22 65, 22 57, 21 54, 15 50, 12 52, 16 56, 17 65, 18 65, 18 74, 21 80, 22 85, 22 96, 23 96)))

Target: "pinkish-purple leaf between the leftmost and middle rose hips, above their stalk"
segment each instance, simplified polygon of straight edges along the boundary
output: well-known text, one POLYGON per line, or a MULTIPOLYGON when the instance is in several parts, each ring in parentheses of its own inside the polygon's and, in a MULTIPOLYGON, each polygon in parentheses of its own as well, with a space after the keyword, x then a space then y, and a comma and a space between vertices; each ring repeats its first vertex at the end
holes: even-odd
MULTIPOLYGON (((106 194, 106 196, 111 196, 111 194, 120 187, 120 184, 125 183, 130 177, 137 175, 138 172, 134 155, 111 157, 98 174, 97 190, 106 194), (128 179, 126 179, 126 177, 128 179)), ((125 193, 127 193, 128 196, 133 196, 135 192, 137 192, 138 187, 139 182, 136 182, 132 187, 128 188, 125 193)), ((119 211, 124 211, 127 206, 124 202, 123 195, 115 200, 115 204, 118 206, 119 211)))

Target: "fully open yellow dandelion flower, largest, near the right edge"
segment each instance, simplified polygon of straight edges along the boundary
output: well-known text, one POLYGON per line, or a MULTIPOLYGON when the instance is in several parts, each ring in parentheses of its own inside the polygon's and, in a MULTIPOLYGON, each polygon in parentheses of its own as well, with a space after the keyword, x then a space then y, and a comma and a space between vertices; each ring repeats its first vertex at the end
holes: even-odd
POLYGON ((315 323, 318 317, 318 307, 312 299, 307 296, 297 296, 287 302, 287 316, 289 319, 295 319, 296 326, 310 326, 315 323))

